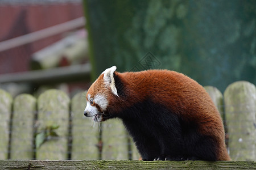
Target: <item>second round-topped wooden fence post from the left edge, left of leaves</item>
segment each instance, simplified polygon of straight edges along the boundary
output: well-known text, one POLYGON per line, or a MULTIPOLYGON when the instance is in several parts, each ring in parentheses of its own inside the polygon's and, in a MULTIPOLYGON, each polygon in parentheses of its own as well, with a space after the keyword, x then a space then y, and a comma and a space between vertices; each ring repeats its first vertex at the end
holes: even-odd
POLYGON ((33 159, 35 97, 22 94, 14 100, 10 159, 33 159))

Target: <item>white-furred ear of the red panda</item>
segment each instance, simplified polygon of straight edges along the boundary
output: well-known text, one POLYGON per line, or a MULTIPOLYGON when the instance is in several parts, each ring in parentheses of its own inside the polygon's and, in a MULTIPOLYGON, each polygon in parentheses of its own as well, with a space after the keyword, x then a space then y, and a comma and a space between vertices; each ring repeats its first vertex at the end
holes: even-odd
POLYGON ((110 88, 114 95, 118 96, 117 88, 115 88, 115 79, 114 79, 114 71, 117 70, 116 66, 112 66, 109 69, 106 69, 101 74, 104 74, 104 81, 110 84, 110 88))

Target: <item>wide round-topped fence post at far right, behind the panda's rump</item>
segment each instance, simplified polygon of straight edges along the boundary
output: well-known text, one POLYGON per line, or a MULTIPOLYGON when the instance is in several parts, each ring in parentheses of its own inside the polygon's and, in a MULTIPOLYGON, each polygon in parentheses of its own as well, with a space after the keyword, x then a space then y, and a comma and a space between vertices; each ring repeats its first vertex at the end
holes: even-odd
POLYGON ((230 84, 224 92, 230 157, 256 160, 256 88, 249 82, 230 84))

